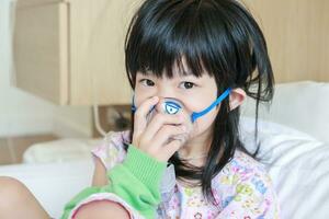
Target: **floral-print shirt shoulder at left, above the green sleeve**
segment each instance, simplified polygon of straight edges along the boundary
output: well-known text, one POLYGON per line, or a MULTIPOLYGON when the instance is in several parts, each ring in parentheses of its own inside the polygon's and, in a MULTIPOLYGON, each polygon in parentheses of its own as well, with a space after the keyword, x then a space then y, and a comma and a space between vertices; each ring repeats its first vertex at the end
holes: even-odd
POLYGON ((125 146, 129 143, 129 130, 110 131, 102 143, 91 150, 93 158, 99 158, 106 170, 123 162, 126 157, 125 146))

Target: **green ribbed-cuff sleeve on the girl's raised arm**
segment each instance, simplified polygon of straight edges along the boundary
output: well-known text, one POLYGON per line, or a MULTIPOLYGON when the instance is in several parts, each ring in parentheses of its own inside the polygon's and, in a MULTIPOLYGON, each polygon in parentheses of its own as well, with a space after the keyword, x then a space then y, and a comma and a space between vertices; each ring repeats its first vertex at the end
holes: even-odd
POLYGON ((83 199, 97 193, 113 193, 145 218, 155 218, 160 204, 160 181, 167 162, 159 162, 129 145, 124 162, 107 172, 111 183, 103 187, 88 187, 73 197, 66 206, 61 219, 83 199))

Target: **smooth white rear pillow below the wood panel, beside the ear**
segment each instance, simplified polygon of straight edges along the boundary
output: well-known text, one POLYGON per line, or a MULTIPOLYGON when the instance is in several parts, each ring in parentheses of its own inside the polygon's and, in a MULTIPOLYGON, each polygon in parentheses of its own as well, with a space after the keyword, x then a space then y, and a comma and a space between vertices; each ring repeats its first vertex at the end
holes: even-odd
MULTIPOLYGON (((247 99, 241 113, 254 116, 252 99, 247 99)), ((329 83, 303 81, 277 84, 271 107, 260 105, 260 118, 290 126, 329 142, 329 83)))

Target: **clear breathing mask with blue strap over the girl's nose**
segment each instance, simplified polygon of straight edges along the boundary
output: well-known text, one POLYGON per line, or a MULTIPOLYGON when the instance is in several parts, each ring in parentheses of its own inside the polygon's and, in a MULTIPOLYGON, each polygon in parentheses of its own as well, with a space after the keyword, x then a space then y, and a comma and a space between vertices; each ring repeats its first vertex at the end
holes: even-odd
MULTIPOLYGON (((220 96, 217 97, 208 107, 201 112, 192 112, 191 115, 189 115, 189 119, 186 119, 186 123, 184 124, 186 127, 186 134, 185 135, 177 135, 173 136, 170 140, 180 140, 182 142, 185 142, 189 137, 189 132, 192 130, 192 126, 195 123, 195 120, 208 112, 211 112, 214 107, 216 107, 224 99, 226 99, 230 94, 231 89, 228 88, 224 93, 220 94, 220 96)), ((169 114, 169 115, 175 115, 179 113, 186 113, 184 108, 184 104, 182 104, 179 100, 175 99, 169 99, 164 97, 161 100, 158 104, 160 105, 155 105, 148 113, 147 115, 147 122, 149 123, 151 118, 155 116, 156 113, 163 113, 163 114, 169 114)), ((135 105, 135 100, 133 96, 133 105, 132 105, 132 111, 135 112, 137 110, 135 105)))

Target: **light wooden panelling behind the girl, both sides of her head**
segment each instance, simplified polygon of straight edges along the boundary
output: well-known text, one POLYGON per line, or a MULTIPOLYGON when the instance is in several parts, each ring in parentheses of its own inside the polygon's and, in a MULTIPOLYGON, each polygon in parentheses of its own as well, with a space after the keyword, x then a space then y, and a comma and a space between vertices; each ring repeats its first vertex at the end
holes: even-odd
MULTIPOLYGON (((15 85, 63 105, 131 103, 123 46, 141 1, 13 1, 15 85)), ((237 1, 263 30, 276 82, 329 82, 329 0, 237 1)))

